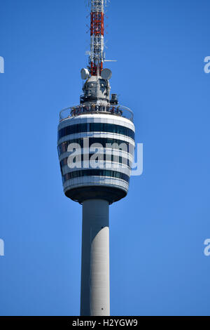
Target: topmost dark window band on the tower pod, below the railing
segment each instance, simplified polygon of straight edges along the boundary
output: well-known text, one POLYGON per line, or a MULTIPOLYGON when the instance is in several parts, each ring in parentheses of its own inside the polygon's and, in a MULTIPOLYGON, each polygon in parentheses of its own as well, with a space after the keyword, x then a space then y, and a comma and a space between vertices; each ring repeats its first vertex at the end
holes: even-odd
POLYGON ((63 136, 69 134, 82 133, 82 132, 107 132, 107 133, 118 133, 123 136, 128 136, 134 140, 135 133, 132 129, 121 125, 107 124, 107 123, 83 123, 71 126, 66 126, 58 131, 58 140, 63 136))

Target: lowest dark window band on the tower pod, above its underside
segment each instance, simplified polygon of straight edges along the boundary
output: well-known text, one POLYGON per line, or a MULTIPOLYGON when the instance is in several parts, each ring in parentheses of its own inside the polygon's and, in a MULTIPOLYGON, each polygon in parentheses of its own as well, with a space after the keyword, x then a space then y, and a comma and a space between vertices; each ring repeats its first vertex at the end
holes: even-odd
POLYGON ((91 169, 91 170, 73 171, 71 173, 66 173, 64 176, 62 176, 62 181, 64 183, 66 180, 79 178, 82 176, 111 176, 111 178, 118 178, 125 180, 127 183, 129 183, 130 180, 130 177, 127 176, 125 173, 110 171, 110 170, 91 169))

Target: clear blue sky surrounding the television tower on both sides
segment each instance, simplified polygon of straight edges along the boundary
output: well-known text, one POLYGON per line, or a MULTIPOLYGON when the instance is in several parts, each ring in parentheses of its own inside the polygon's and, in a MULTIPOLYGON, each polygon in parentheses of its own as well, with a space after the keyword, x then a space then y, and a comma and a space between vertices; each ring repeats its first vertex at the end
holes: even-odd
MULTIPOLYGON (((82 208, 62 192, 59 110, 87 64, 84 1, 1 1, 0 315, 78 315, 82 208)), ((111 91, 144 173, 110 207, 111 315, 210 315, 208 0, 112 0, 111 91)))

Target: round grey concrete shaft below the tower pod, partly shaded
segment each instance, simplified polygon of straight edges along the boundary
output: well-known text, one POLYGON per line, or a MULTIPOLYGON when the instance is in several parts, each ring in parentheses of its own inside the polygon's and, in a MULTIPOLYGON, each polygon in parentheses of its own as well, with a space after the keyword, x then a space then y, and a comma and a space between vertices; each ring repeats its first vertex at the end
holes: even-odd
POLYGON ((80 315, 109 315, 109 202, 83 202, 80 315))

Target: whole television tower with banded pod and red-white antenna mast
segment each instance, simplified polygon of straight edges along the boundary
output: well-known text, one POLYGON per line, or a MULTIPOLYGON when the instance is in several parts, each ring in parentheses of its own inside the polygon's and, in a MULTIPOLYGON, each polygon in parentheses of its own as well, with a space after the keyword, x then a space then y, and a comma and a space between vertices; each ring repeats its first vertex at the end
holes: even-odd
MULTIPOLYGON (((83 205, 80 315, 110 315, 109 204, 127 195, 134 157, 132 111, 111 94, 104 68, 105 0, 90 3, 89 65, 80 104, 59 114, 64 194, 83 205)), ((108 62, 108 61, 107 61, 108 62)))

